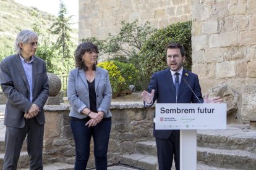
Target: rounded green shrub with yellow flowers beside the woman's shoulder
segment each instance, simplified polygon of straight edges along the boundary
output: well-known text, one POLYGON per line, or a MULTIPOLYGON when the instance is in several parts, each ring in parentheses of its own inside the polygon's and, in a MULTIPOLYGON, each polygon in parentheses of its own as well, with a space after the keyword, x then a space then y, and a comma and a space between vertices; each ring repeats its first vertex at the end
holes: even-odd
POLYGON ((139 77, 139 71, 131 63, 106 61, 98 63, 98 67, 104 68, 109 72, 113 98, 121 95, 122 91, 128 89, 130 84, 135 85, 139 77))

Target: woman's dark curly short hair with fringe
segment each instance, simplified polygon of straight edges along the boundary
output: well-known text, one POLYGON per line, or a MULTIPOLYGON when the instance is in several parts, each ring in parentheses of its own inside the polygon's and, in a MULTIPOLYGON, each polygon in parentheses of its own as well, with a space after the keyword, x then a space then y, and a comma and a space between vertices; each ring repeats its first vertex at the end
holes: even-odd
MULTIPOLYGON (((82 57, 83 57, 83 54, 85 54, 85 52, 92 52, 92 51, 96 52, 96 54, 99 53, 98 47, 92 42, 87 41, 79 44, 77 46, 77 49, 75 50, 75 67, 78 67, 79 69, 83 68, 83 70, 87 71, 88 68, 83 63, 82 57)), ((98 59, 98 55, 97 55, 97 59, 98 59)), ((96 64, 97 62, 93 65, 93 70, 96 70, 96 64)))

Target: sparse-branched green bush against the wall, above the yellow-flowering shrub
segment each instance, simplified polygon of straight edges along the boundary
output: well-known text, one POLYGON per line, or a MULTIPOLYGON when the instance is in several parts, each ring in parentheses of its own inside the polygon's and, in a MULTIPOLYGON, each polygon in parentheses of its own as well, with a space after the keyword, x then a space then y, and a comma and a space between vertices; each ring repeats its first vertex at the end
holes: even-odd
POLYGON ((110 55, 111 59, 121 60, 121 62, 133 62, 139 57, 137 53, 142 48, 143 43, 155 31, 155 29, 151 28, 149 22, 138 25, 138 20, 132 23, 122 21, 121 29, 116 35, 109 33, 108 38, 105 40, 92 37, 82 39, 82 41, 94 42, 98 45, 100 53, 110 55))

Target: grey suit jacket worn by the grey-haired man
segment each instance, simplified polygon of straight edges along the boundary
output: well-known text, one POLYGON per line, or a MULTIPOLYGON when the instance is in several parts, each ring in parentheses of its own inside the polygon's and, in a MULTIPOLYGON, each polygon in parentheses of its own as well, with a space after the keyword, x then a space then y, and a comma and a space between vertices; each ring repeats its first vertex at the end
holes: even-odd
MULTIPOLYGON (((49 96, 46 65, 44 60, 35 56, 32 64, 33 103, 40 109, 40 113, 36 115, 36 120, 38 123, 44 124, 45 113, 43 106, 49 96)), ((0 84, 2 92, 7 98, 4 124, 17 128, 24 127, 23 116, 32 106, 32 102, 29 100, 28 80, 19 54, 11 55, 2 60, 0 64, 0 84)))

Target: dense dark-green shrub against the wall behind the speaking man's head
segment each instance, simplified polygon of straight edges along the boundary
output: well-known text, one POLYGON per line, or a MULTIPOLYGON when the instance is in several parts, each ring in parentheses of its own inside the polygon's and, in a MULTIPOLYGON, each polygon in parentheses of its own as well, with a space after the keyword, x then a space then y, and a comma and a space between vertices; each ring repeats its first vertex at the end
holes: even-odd
MULTIPOLYGON (((154 72, 167 67, 165 48, 172 42, 177 42, 184 46, 186 62, 183 66, 186 70, 191 70, 191 22, 174 23, 156 31, 142 46, 140 51, 140 67, 147 83, 154 72)), ((143 88, 147 88, 145 84, 143 88)))

